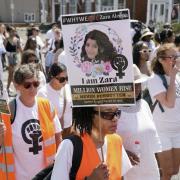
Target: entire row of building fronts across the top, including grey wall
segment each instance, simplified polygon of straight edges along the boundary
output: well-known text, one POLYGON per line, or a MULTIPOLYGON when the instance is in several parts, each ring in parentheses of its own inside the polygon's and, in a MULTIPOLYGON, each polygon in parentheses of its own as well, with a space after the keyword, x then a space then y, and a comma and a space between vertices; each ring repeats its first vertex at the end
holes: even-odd
POLYGON ((0 22, 55 22, 62 14, 122 8, 146 24, 180 22, 180 0, 1 0, 0 22))

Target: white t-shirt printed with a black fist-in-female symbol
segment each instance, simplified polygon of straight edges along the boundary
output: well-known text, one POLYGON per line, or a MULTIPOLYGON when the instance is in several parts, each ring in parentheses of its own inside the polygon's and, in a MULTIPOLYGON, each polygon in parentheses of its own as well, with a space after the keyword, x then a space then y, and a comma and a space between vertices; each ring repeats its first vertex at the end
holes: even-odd
MULTIPOLYGON (((16 116, 12 126, 15 175, 17 180, 30 180, 45 168, 41 127, 38 120, 37 100, 33 107, 26 107, 17 97, 16 116)), ((61 132, 57 115, 55 132, 61 132)))

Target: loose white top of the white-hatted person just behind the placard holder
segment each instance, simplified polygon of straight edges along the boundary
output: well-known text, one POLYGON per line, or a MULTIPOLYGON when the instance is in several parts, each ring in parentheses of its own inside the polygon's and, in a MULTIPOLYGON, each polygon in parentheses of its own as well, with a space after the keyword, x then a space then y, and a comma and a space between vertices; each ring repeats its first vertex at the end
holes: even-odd
POLYGON ((141 99, 136 105, 121 109, 117 133, 121 135, 125 149, 135 153, 135 141, 140 142, 140 163, 133 166, 124 179, 159 180, 154 153, 161 151, 161 144, 147 102, 141 99))

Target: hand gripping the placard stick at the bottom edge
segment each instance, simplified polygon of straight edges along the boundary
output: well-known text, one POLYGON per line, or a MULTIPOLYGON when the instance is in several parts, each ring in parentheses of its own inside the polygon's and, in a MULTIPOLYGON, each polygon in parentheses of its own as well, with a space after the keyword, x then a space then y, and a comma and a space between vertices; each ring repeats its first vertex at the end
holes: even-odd
POLYGON ((90 176, 86 178, 87 180, 108 180, 109 170, 106 164, 100 164, 97 166, 90 176))

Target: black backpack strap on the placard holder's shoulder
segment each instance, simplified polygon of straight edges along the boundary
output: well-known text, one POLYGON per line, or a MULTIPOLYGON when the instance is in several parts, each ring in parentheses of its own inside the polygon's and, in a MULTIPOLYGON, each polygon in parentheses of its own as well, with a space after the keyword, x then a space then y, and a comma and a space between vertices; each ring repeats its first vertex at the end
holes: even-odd
POLYGON ((77 135, 72 135, 65 139, 71 140, 74 147, 73 157, 72 157, 72 167, 69 173, 69 179, 75 180, 76 174, 81 164, 82 153, 83 153, 83 142, 80 136, 77 136, 77 135))

